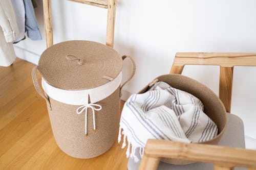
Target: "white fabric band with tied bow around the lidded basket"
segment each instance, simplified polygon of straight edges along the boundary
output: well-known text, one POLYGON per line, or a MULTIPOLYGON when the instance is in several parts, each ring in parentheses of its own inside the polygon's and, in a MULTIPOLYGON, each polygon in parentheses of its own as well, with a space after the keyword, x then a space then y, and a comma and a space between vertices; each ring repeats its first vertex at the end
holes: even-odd
POLYGON ((70 104, 70 105, 82 105, 77 108, 76 113, 81 114, 84 110, 86 110, 86 113, 84 115, 85 119, 85 135, 87 136, 87 111, 88 108, 91 108, 93 111, 93 131, 96 131, 96 125, 95 125, 95 110, 99 111, 101 110, 101 106, 98 104, 95 104, 96 102, 99 102, 108 96, 110 96, 121 84, 122 81, 122 72, 113 79, 112 81, 102 85, 98 86, 92 89, 88 90, 63 90, 56 87, 51 86, 48 84, 43 78, 42 78, 42 88, 45 90, 47 95, 49 95, 52 99, 70 104), (90 95, 90 101, 88 96, 90 95))

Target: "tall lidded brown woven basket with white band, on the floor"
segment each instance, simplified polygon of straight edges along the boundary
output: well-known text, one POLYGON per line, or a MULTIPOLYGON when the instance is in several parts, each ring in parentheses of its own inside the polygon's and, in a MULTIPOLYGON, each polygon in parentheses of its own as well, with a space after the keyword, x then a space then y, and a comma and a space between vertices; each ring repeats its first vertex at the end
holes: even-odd
POLYGON ((121 57, 100 43, 66 41, 42 53, 32 70, 33 83, 47 102, 54 138, 66 154, 93 158, 114 144, 120 118, 122 61, 126 57, 134 68, 129 81, 135 72, 133 59, 121 57), (37 82, 37 69, 45 92, 37 82))

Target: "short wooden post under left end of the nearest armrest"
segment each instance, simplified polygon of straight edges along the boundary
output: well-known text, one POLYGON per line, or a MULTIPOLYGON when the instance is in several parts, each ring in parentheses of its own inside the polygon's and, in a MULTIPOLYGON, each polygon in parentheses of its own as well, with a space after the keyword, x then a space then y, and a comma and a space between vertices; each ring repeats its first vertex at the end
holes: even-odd
POLYGON ((156 170, 159 162, 160 158, 150 157, 144 154, 140 162, 139 170, 156 170))

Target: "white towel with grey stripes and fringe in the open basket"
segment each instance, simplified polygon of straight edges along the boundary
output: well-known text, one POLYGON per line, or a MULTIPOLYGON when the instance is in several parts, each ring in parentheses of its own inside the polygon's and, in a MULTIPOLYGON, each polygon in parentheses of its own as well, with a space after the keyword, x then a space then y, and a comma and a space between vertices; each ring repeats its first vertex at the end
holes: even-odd
POLYGON ((201 142, 218 134, 216 124, 203 112, 194 95, 155 83, 147 92, 133 94, 125 102, 120 119, 118 142, 128 142, 126 156, 136 162, 142 157, 147 139, 201 142), (131 150, 131 152, 130 152, 131 150))

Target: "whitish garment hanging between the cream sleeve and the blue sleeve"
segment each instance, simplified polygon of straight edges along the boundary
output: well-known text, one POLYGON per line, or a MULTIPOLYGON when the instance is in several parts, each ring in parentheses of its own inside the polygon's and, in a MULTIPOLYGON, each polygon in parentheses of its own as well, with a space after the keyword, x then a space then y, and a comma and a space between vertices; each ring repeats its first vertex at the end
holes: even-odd
POLYGON ((25 38, 25 7, 23 0, 11 0, 15 12, 19 33, 15 35, 15 43, 25 38))

